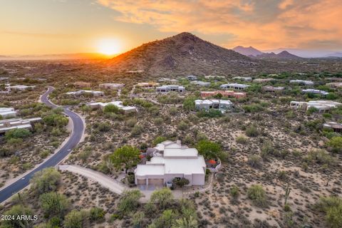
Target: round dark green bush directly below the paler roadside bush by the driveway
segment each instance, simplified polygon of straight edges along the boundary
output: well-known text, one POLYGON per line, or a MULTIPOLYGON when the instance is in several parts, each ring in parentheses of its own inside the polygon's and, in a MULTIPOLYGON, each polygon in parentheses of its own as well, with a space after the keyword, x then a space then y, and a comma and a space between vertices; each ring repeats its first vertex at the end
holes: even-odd
POLYGON ((44 193, 39 197, 39 202, 46 217, 51 217, 53 215, 63 217, 69 207, 66 196, 57 192, 44 193))

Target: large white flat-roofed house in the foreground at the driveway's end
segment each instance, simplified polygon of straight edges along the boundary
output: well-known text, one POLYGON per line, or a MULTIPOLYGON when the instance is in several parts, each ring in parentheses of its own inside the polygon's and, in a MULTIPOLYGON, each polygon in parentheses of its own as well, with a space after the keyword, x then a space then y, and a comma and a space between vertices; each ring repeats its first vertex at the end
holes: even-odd
POLYGON ((189 180, 188 186, 204 185, 207 166, 195 148, 184 147, 180 141, 165 141, 157 147, 159 154, 135 169, 136 185, 164 186, 182 177, 189 180))

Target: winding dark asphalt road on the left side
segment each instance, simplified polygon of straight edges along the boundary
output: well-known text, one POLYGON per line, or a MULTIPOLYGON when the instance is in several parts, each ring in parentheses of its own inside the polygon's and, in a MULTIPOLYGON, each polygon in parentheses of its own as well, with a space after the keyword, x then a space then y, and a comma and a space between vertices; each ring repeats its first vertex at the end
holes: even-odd
MULTIPOLYGON (((50 106, 51 108, 56 108, 56 105, 53 105, 48 100, 48 95, 53 91, 52 87, 49 87, 46 93, 44 93, 41 96, 41 101, 45 103, 46 105, 50 106)), ((23 178, 17 180, 16 182, 12 183, 8 187, 4 188, 0 191, 0 203, 4 202, 6 199, 9 199, 12 195, 16 194, 16 192, 19 192, 20 190, 24 189, 24 187, 28 186, 30 183, 31 177, 33 175, 43 170, 46 167, 53 167, 55 165, 58 165, 59 162, 61 162, 64 157, 66 157, 71 150, 73 150, 74 147, 80 142, 82 135, 83 135, 83 121, 82 119, 76 115, 76 113, 73 113, 71 110, 68 110, 68 108, 63 108, 64 113, 70 116, 70 118, 73 120, 73 133, 71 133, 71 137, 69 138, 68 142, 66 142, 63 147, 61 147, 58 152, 56 152, 53 156, 51 156, 48 160, 43 162, 41 165, 36 167, 36 169, 29 172, 27 175, 25 175, 23 178)))

